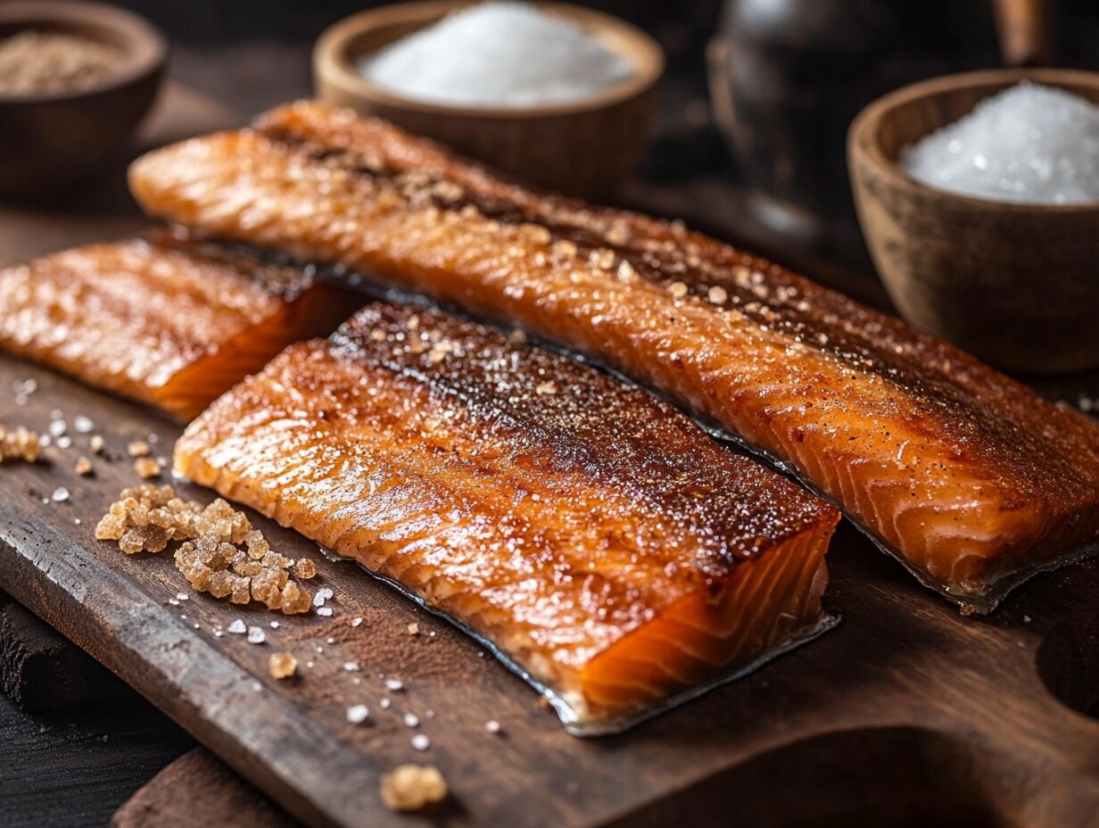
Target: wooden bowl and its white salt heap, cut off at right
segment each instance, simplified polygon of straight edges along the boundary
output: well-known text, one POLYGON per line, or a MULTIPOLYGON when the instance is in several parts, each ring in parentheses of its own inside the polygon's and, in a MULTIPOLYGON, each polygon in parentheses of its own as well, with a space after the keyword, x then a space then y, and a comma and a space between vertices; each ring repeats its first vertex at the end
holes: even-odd
POLYGON ((1099 74, 914 84, 863 110, 847 155, 909 322, 1015 373, 1099 366, 1099 74))

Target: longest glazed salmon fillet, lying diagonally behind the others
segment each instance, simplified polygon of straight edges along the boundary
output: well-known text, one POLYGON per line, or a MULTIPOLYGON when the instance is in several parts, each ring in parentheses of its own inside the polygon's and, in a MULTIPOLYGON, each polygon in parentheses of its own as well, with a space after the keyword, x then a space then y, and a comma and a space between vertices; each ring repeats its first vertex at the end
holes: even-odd
POLYGON ((656 388, 987 611, 1099 533, 1099 429, 677 223, 502 183, 304 102, 137 161, 151 213, 509 320, 656 388))

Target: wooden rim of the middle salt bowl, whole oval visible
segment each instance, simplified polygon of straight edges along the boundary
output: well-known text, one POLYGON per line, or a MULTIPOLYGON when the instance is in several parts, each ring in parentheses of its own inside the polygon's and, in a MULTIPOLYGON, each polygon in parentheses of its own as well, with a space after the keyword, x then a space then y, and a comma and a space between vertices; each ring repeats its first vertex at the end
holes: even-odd
POLYGON ((344 18, 324 30, 313 47, 314 79, 317 81, 324 79, 338 86, 343 91, 371 103, 410 112, 485 120, 532 120, 608 109, 647 92, 664 74, 664 51, 652 36, 620 18, 563 2, 539 2, 537 5, 547 12, 579 22, 585 27, 613 31, 620 37, 631 41, 643 58, 637 64, 637 71, 597 95, 575 101, 534 107, 475 107, 417 100, 396 95, 355 71, 346 57, 347 44, 364 32, 400 23, 422 22, 423 26, 426 26, 452 11, 476 5, 479 1, 413 0, 380 5, 344 18))

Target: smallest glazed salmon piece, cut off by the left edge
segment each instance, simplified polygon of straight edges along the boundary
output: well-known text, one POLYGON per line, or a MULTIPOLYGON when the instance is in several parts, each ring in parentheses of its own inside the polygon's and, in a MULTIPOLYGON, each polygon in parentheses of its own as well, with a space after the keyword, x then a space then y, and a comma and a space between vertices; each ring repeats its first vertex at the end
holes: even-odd
POLYGON ((342 296, 158 232, 0 271, 0 347, 187 420, 290 342, 335 329, 342 296))

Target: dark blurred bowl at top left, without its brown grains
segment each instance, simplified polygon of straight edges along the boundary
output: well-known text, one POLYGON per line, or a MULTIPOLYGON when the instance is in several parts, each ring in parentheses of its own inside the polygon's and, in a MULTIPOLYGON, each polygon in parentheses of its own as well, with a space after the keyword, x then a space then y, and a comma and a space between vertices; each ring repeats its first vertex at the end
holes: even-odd
POLYGON ((124 58, 110 77, 73 92, 0 95, 0 196, 7 198, 45 198, 102 169, 148 112, 168 54, 149 23, 100 3, 0 3, 0 40, 27 29, 109 43, 124 58))

